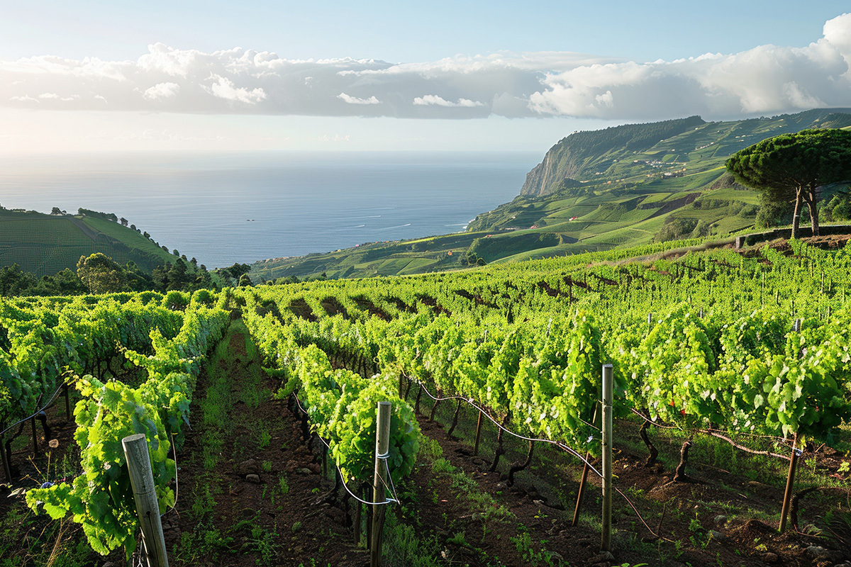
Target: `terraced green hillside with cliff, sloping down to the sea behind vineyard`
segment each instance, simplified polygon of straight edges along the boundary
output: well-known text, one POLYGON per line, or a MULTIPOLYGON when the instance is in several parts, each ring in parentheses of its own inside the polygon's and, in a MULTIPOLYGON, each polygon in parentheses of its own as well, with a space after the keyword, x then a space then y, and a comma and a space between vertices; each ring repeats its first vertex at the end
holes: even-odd
POLYGON ((250 277, 405 275, 465 268, 469 252, 473 261, 502 263, 751 230, 759 197, 733 183, 728 156, 780 133, 849 127, 851 109, 817 109, 574 133, 528 173, 519 196, 478 215, 463 234, 264 260, 250 277))

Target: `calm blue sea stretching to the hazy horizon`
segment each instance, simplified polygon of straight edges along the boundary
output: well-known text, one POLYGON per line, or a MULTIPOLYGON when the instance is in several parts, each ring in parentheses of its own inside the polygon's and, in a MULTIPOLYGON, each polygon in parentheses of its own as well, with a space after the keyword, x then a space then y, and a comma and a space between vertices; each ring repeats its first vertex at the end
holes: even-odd
POLYGON ((0 157, 0 205, 127 218, 209 268, 460 232, 519 195, 529 152, 0 157))

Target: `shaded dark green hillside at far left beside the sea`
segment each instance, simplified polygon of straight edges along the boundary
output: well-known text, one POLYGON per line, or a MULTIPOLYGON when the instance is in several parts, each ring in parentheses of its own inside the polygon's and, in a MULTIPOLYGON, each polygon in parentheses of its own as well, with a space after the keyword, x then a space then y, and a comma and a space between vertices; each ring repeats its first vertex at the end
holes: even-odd
POLYGON ((106 218, 0 208, 0 266, 18 264, 40 277, 76 270, 80 256, 94 252, 118 264, 133 261, 147 272, 175 259, 144 235, 106 218))

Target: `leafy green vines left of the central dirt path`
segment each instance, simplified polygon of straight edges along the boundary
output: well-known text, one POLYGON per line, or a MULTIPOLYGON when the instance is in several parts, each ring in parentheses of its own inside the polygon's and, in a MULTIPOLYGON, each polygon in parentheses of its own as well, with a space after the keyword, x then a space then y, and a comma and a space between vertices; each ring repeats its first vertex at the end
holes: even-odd
POLYGON ((3 421, 30 415, 66 380, 83 398, 74 409, 82 472, 28 490, 26 502, 54 519, 71 513, 99 553, 136 547, 121 439, 146 435, 160 507, 174 503, 173 444, 183 440, 203 355, 229 320, 216 301, 204 290, 0 301, 3 421))

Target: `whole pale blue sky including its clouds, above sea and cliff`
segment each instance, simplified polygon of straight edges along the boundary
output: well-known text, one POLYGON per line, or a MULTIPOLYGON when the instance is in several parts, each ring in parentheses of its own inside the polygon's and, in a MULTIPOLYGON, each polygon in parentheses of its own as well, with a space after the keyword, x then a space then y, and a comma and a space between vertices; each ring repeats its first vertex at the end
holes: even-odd
POLYGON ((847 0, 0 9, 9 155, 545 151, 627 122, 851 107, 847 0))

